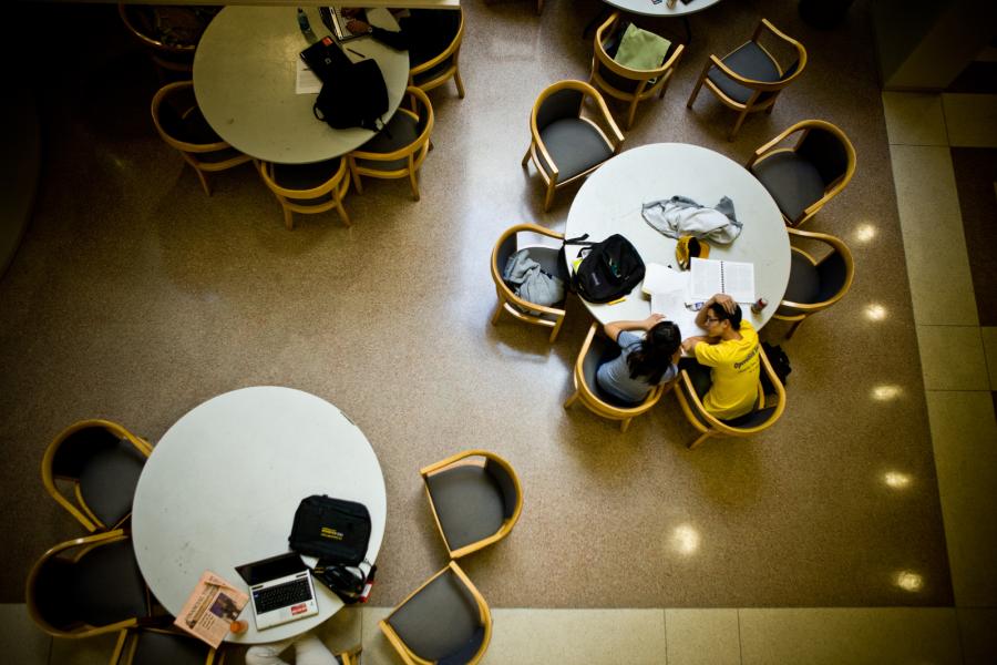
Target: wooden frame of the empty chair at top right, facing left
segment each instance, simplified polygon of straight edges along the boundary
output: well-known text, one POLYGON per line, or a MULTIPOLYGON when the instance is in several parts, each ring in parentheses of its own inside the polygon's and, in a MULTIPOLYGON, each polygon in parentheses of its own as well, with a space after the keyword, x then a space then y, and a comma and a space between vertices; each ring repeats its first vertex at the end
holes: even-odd
MULTIPOLYGON (((768 19, 762 19, 761 22, 759 22, 758 27, 754 29, 754 33, 751 35, 751 39, 744 43, 747 44, 752 41, 758 43, 758 40, 761 37, 763 31, 768 31, 768 32, 774 34, 778 39, 784 41, 785 43, 790 44, 791 47, 793 47, 796 50, 796 58, 799 60, 798 60, 796 71, 793 72, 792 75, 787 76, 785 79, 781 79, 779 81, 772 82, 772 83, 769 83, 765 81, 754 81, 752 79, 746 79, 741 74, 734 72, 732 69, 730 69, 729 66, 723 64, 723 60, 721 58, 717 58, 716 55, 711 54, 709 60, 707 60, 706 65, 702 68, 702 73, 699 74, 699 80, 696 82, 696 86, 692 88, 692 94, 689 95, 689 101, 686 102, 686 108, 691 109, 692 102, 696 101, 696 96, 699 94, 699 89, 702 88, 703 83, 706 83, 706 86, 709 88, 710 91, 717 95, 717 99, 720 100, 720 103, 722 103, 724 106, 727 106, 729 109, 739 111, 740 113, 738 113, 738 119, 734 122, 733 127, 727 134, 728 141, 734 140, 734 136, 737 136, 738 132, 741 129, 741 124, 744 122, 744 119, 748 116, 749 113, 756 113, 758 111, 764 111, 765 113, 771 113, 772 108, 775 105, 775 100, 779 98, 779 92, 783 88, 785 88, 787 85, 789 85, 790 83, 795 81, 796 78, 803 73, 803 70, 806 66, 806 49, 803 48, 803 44, 801 44, 799 41, 794 40, 793 38, 789 37, 788 34, 785 34, 784 32, 782 32, 781 30, 775 28, 775 25, 773 25, 771 22, 769 22, 768 19), (752 90, 751 96, 748 98, 747 102, 741 103, 741 102, 738 102, 737 100, 730 99, 720 90, 720 88, 716 83, 713 83, 712 81, 710 81, 707 78, 707 75, 710 72, 710 69, 715 68, 715 66, 718 70, 720 70, 720 72, 722 72, 729 79, 736 81, 737 83, 740 83, 744 88, 750 88, 752 90), (767 92, 771 92, 773 94, 764 100, 759 101, 759 98, 761 98, 761 95, 767 92)), ((743 47, 743 45, 744 44, 741 44, 741 47, 743 47)), ((769 53, 768 50, 765 50, 765 48, 761 45, 761 43, 758 43, 758 45, 762 51, 765 51, 765 53, 769 54, 769 58, 772 60, 773 63, 775 63, 775 69, 779 72, 779 75, 782 76, 784 72, 782 70, 782 65, 779 64, 779 61, 775 60, 775 58, 773 58, 771 55, 771 53, 769 53)), ((738 47, 738 49, 740 49, 741 47, 738 47)), ((731 51, 723 58, 727 58, 728 55, 730 55, 738 49, 734 49, 733 51, 731 51)))

